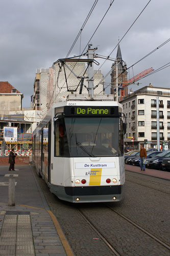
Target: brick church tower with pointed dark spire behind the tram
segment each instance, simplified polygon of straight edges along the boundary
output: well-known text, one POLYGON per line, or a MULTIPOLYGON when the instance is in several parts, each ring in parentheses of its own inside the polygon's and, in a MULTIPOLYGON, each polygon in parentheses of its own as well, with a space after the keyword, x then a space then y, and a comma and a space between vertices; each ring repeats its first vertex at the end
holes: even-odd
MULTIPOLYGON (((121 84, 127 81, 127 75, 128 72, 126 71, 126 63, 122 59, 122 54, 120 51, 120 46, 118 45, 117 48, 117 55, 116 55, 116 60, 120 62, 118 64, 118 88, 121 87, 121 84)), ((112 67, 116 65, 116 61, 112 64, 112 67)), ((125 87, 125 95, 128 95, 128 87, 125 87)), ((112 70, 111 73, 111 90, 110 94, 116 95, 116 68, 112 70)), ((120 96, 121 96, 121 90, 118 90, 118 101, 120 101, 120 96)))

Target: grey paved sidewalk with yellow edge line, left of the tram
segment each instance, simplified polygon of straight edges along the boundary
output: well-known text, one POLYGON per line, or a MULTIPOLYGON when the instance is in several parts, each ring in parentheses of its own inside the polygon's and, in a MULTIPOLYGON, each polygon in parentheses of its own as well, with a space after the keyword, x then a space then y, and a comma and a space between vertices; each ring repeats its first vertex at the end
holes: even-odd
POLYGON ((0 166, 0 255, 74 256, 30 165, 0 166), (15 206, 8 206, 9 175, 15 206))

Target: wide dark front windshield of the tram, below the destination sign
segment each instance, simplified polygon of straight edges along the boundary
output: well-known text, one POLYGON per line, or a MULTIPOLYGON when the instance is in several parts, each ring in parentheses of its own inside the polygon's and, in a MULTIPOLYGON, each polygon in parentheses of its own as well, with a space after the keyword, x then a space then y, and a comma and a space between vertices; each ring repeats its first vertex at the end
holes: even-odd
POLYGON ((64 118, 63 121, 58 120, 55 133, 55 152, 58 154, 55 156, 122 156, 123 129, 121 121, 119 118, 64 118))

